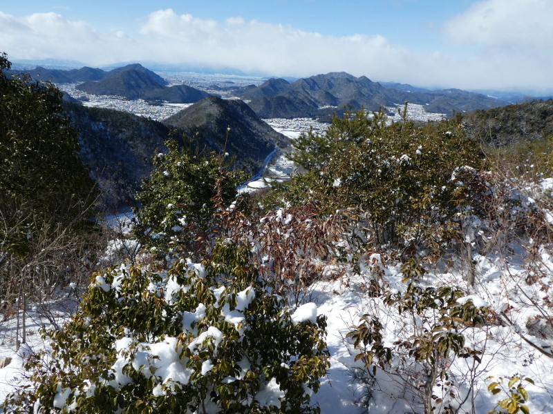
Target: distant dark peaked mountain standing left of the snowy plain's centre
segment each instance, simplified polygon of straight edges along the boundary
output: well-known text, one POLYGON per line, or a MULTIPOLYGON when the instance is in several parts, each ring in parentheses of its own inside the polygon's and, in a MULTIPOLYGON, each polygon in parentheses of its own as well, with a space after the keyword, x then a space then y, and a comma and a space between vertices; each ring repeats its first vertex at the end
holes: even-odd
POLYGON ((165 85, 159 83, 148 72, 129 68, 110 72, 101 81, 84 82, 75 88, 93 95, 117 95, 127 99, 138 99, 165 89, 165 85))

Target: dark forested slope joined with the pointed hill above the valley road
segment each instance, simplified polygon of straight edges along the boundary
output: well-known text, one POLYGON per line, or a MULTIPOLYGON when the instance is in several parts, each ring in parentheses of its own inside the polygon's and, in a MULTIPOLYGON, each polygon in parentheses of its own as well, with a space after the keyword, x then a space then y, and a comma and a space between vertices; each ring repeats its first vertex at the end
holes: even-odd
POLYGON ((142 179, 151 172, 153 155, 167 150, 170 135, 193 151, 229 152, 235 158, 232 168, 250 173, 258 172, 277 146, 288 145, 287 138, 238 100, 209 97, 163 123, 75 103, 64 103, 64 108, 79 131, 79 156, 97 180, 108 208, 134 204, 142 179))

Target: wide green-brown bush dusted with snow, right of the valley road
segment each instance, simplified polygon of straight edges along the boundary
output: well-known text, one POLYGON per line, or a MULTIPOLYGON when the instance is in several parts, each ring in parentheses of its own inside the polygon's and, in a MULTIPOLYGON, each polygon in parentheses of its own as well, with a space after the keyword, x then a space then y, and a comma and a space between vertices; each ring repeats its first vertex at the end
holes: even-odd
POLYGON ((315 199, 328 214, 358 208, 377 246, 451 237, 456 227, 451 221, 466 204, 453 172, 483 163, 478 143, 467 139, 460 119, 386 126, 382 114, 367 119, 360 111, 334 119, 324 135, 302 135, 298 143, 291 159, 308 173, 270 202, 315 199))

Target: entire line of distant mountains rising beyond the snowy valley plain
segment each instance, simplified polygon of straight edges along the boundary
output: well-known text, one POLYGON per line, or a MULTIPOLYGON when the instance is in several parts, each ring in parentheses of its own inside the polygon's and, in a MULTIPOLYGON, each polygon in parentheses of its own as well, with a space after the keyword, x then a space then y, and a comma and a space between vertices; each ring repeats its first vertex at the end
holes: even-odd
MULTIPOLYGON (((72 70, 37 67, 35 79, 54 83, 83 81, 76 88, 94 95, 118 95, 126 99, 151 99, 170 103, 194 103, 208 97, 205 91, 191 86, 167 86, 167 81, 140 63, 131 63, 109 72, 83 67, 72 70)), ((344 108, 378 110, 405 101, 424 106, 427 112, 453 115, 477 109, 505 106, 507 101, 459 89, 429 90, 402 83, 378 83, 367 77, 354 77, 346 72, 330 72, 288 81, 271 78, 259 86, 225 87, 221 92, 246 101, 262 118, 317 117, 330 121, 344 108)))

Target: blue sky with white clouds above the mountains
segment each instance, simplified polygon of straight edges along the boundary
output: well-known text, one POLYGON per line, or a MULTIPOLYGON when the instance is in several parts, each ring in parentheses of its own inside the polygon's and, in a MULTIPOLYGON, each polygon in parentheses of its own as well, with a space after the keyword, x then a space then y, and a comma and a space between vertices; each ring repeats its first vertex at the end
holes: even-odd
POLYGON ((0 0, 8 59, 553 89, 553 0, 0 0))

